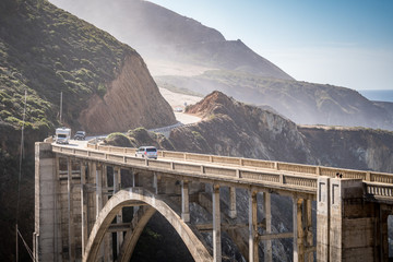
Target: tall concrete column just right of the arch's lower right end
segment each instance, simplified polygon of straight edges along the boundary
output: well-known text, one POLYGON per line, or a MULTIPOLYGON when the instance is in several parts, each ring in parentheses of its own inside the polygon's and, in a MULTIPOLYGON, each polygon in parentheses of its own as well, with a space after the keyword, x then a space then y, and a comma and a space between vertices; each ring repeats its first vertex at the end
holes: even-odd
POLYGON ((213 261, 222 261, 219 186, 213 186, 213 261))

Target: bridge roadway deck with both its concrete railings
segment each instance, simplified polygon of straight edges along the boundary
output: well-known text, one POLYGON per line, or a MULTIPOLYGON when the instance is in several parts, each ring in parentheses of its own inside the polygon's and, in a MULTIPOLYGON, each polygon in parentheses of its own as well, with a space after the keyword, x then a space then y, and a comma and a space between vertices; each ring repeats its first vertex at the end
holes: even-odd
POLYGON ((183 176, 189 180, 236 183, 236 187, 259 187, 279 193, 317 194, 319 176, 361 179, 365 192, 376 201, 393 200, 393 174, 342 169, 294 163, 269 162, 217 155, 160 151, 158 159, 134 157, 135 148, 87 147, 52 144, 52 151, 67 156, 105 162, 128 168, 157 171, 168 176, 183 176))

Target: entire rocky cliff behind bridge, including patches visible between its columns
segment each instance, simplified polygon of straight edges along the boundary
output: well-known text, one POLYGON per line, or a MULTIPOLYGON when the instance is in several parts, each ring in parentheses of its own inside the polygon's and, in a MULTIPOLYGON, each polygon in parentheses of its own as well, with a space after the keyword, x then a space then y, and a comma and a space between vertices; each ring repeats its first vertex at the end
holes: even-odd
MULTIPOLYGON (((203 120, 191 127, 172 130, 169 141, 158 140, 156 136, 152 139, 153 134, 148 135, 146 132, 143 132, 144 135, 141 135, 140 131, 134 132, 131 134, 134 145, 147 142, 160 148, 202 154, 388 172, 393 170, 391 146, 393 132, 342 127, 299 127, 272 111, 238 103, 219 92, 213 92, 196 105, 189 106, 187 112, 199 115, 203 120), (160 142, 156 143, 156 141, 160 142)), ((227 189, 222 189, 222 193, 223 209, 225 209, 228 204, 227 189)), ((239 221, 247 221, 247 192, 237 190, 239 221)), ((203 221, 202 213, 201 209, 192 205, 192 217, 203 221)), ((273 194, 272 215, 274 233, 293 230, 290 198, 273 194)), ((263 217, 261 210, 259 217, 263 217)), ((170 228, 163 229, 162 224, 163 221, 152 219, 148 225, 162 235, 168 234, 170 228)), ((247 236, 247 233, 239 234, 247 236)), ((206 241, 210 240, 207 236, 206 241)), ((237 247, 230 243, 225 234, 223 234, 223 242, 225 242, 223 252, 226 258, 237 258, 237 261, 242 261, 241 255, 236 251, 237 247)), ((290 240, 274 241, 274 261, 291 261, 291 252, 290 240)), ((263 257, 262 250, 260 255, 263 257)))

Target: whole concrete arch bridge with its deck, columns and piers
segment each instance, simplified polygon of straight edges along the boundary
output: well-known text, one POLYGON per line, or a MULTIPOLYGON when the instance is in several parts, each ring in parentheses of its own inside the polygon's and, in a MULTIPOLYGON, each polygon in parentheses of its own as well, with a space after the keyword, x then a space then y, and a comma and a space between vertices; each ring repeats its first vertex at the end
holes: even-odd
POLYGON ((272 240, 279 238, 293 239, 294 261, 389 260, 392 174, 169 151, 160 151, 158 159, 143 159, 134 153, 36 143, 37 261, 129 261, 155 212, 195 261, 222 261, 222 230, 248 261, 259 261, 262 247, 264 261, 272 261, 272 240), (249 199, 243 222, 237 219, 236 204, 241 190, 249 199), (272 230, 272 193, 291 198, 293 231, 272 230), (195 223, 190 202, 206 209, 212 221, 195 223), (133 206, 130 223, 122 217, 127 206, 133 206), (212 234, 212 243, 202 231, 212 234))

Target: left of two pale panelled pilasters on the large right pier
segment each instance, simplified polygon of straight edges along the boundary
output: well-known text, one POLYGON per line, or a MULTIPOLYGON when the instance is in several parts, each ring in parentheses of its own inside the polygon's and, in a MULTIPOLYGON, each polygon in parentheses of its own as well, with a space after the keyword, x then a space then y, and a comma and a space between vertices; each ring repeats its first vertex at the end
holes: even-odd
POLYGON ((325 262, 330 249, 330 177, 319 177, 317 188, 317 261, 325 262))

